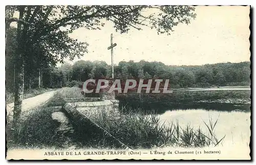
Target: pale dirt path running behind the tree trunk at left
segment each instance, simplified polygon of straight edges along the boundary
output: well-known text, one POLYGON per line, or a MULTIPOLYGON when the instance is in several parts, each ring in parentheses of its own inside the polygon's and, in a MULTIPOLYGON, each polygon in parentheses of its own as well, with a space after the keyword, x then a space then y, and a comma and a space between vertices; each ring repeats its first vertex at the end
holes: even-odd
MULTIPOLYGON (((46 102, 48 99, 50 99, 53 96, 54 92, 56 91, 50 91, 50 92, 37 95, 35 97, 24 99, 22 102, 22 112, 28 111, 29 109, 46 102)), ((7 104, 7 109, 6 109, 7 116, 13 115, 13 107, 14 107, 14 102, 7 104)))

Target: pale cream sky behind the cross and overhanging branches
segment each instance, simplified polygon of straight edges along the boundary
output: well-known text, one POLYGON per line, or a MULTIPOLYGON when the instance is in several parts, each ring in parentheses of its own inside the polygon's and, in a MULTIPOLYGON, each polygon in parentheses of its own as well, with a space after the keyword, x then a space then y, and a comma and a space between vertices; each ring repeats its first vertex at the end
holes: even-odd
MULTIPOLYGON (((114 64, 120 61, 158 61, 166 65, 204 65, 250 61, 249 7, 196 6, 196 19, 178 24, 169 36, 143 27, 127 34, 115 32, 112 22, 101 30, 80 28, 70 37, 89 44, 89 52, 78 60, 111 64, 110 36, 113 34, 114 64)), ((147 13, 145 13, 147 14, 147 13)), ((150 14, 150 13, 148 13, 150 14)), ((68 59, 66 62, 70 62, 68 59)))

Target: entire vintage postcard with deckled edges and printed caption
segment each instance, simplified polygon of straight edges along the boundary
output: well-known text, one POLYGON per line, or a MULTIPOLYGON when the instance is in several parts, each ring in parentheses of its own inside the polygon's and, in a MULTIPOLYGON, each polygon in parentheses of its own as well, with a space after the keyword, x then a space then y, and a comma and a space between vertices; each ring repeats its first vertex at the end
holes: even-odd
POLYGON ((250 160, 250 6, 6 6, 6 159, 250 160))

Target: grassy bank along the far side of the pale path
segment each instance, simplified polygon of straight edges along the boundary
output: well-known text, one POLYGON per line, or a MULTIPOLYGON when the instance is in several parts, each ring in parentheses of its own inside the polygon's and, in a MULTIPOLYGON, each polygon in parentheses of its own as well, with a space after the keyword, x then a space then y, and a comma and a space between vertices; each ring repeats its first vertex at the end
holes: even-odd
MULTIPOLYGON (((34 96, 40 95, 42 93, 50 92, 50 91, 54 91, 54 90, 56 90, 56 89, 36 88, 36 89, 27 90, 27 91, 24 91, 23 99, 34 97, 34 96)), ((8 91, 6 92, 6 102, 7 103, 14 102, 14 93, 13 92, 8 92, 8 91)))

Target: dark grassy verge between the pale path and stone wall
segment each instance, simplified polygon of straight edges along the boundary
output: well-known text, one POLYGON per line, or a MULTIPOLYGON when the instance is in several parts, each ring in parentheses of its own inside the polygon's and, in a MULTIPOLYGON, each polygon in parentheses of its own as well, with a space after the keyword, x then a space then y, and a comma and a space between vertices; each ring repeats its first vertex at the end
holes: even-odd
POLYGON ((52 118, 55 112, 61 112, 65 97, 82 97, 77 88, 62 88, 56 91, 43 106, 31 109, 22 114, 20 127, 14 128, 7 116, 7 147, 8 148, 63 148, 69 132, 58 132, 60 123, 52 118), (14 134, 17 138, 14 139, 14 134))

